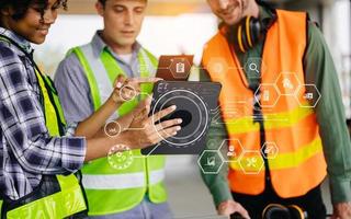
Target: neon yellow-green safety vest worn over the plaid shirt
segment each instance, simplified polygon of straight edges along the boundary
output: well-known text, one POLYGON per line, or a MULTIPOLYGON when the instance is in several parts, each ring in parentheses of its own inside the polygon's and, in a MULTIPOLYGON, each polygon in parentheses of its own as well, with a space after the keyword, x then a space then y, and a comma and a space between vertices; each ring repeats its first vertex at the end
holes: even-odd
MULTIPOLYGON (((4 37, 0 41, 9 42, 4 37)), ((35 69, 35 68, 34 68, 35 69)), ((57 96, 56 89, 48 77, 42 76, 35 69, 35 74, 43 95, 45 108, 45 124, 50 136, 60 136, 65 126, 65 118, 57 96)), ((65 218, 87 209, 86 200, 77 177, 56 175, 60 192, 54 193, 37 200, 29 203, 11 210, 5 210, 5 218, 65 218)), ((35 191, 35 189, 34 189, 35 191)), ((31 196, 29 195, 29 198, 31 196)), ((12 201, 12 200, 10 200, 12 201)), ((15 200, 13 201, 15 203, 15 200)), ((4 205, 5 206, 5 205, 4 205)), ((1 207, 1 206, 0 206, 1 207)))

